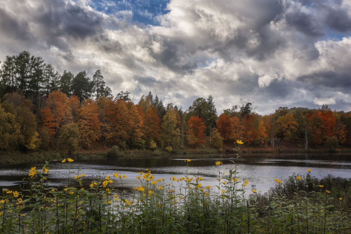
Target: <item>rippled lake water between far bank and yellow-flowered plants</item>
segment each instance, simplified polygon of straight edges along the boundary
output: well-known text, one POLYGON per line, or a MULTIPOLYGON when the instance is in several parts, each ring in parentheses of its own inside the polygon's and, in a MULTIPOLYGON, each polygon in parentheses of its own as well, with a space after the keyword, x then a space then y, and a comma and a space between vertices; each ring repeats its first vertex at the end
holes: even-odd
MULTIPOLYGON (((276 183, 274 178, 282 181, 288 178, 293 173, 306 174, 307 168, 312 169, 312 175, 324 177, 328 174, 351 178, 351 155, 249 155, 244 154, 241 158, 236 159, 235 155, 197 155, 197 159, 191 159, 188 167, 188 174, 199 174, 205 181, 202 184, 207 186, 218 185, 218 167, 214 165, 216 161, 223 162, 220 165, 220 171, 228 173, 229 168, 233 167, 230 160, 235 160, 237 166, 237 178, 240 180, 248 180, 248 189, 251 190, 251 185, 256 185, 256 189, 261 192, 266 192, 276 183)), ((185 158, 158 158, 158 159, 96 159, 74 161, 70 164, 71 171, 86 174, 84 178, 84 186, 88 187, 92 180, 96 180, 97 176, 106 176, 118 172, 126 174, 127 179, 124 179, 123 185, 118 182, 115 184, 119 189, 125 189, 127 192, 138 184, 135 179, 140 171, 145 172, 148 168, 155 178, 165 178, 170 181, 172 175, 184 176, 186 174, 185 158)), ((42 164, 21 164, 21 165, 1 165, 0 166, 0 188, 9 188, 18 190, 19 186, 28 187, 28 183, 22 181, 24 177, 28 177, 28 170, 36 166, 37 169, 42 167, 42 164)), ((59 161, 50 162, 50 175, 48 180, 52 186, 66 184, 68 181, 68 163, 59 161)))

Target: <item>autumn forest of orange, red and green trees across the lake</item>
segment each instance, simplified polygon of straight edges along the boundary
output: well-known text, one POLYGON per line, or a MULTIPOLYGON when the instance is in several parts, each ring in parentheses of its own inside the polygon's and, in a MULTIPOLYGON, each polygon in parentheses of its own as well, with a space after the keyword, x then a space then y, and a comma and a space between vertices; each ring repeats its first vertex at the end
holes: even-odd
POLYGON ((113 96, 100 70, 92 78, 87 71, 60 74, 27 51, 6 56, 0 65, 0 152, 71 154, 96 145, 171 152, 206 141, 215 149, 236 140, 274 147, 274 139, 303 140, 306 151, 351 144, 351 112, 328 105, 277 107, 262 116, 250 100, 240 99, 218 116, 212 95, 197 98, 185 111, 164 105, 151 91, 137 102, 128 91, 113 96))

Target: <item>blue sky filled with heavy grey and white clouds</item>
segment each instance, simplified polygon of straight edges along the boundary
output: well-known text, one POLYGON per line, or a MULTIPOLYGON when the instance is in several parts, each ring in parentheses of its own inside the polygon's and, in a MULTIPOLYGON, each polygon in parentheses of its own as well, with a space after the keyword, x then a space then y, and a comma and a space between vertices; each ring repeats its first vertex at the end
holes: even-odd
POLYGON ((0 0, 0 61, 101 69, 115 96, 351 111, 351 0, 0 0))

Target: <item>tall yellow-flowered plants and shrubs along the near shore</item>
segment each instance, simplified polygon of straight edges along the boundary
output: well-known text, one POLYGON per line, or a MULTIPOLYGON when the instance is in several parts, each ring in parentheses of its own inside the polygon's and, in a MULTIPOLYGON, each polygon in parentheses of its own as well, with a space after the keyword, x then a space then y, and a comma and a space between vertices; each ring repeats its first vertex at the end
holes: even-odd
MULTIPOLYGON (((237 150, 240 148, 238 141, 237 150)), ((272 178, 276 186, 258 193, 216 162, 218 185, 199 175, 155 178, 146 169, 135 178, 132 194, 116 189, 126 175, 98 178, 84 189, 84 174, 71 171, 69 183, 50 186, 48 162, 28 172, 30 189, 4 189, 0 198, 1 233, 351 233, 351 180, 292 175, 272 178), (251 190, 247 195, 248 190, 251 190)), ((185 160, 188 167, 190 159, 185 160)))

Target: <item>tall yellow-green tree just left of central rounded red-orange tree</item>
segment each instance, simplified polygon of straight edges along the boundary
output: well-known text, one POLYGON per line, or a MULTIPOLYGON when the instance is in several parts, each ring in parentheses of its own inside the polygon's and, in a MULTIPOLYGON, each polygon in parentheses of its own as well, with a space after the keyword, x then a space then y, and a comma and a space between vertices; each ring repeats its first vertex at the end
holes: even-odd
POLYGON ((163 116, 161 125, 161 138, 166 143, 167 147, 176 144, 180 140, 180 130, 177 128, 179 118, 177 109, 174 109, 173 104, 169 103, 166 114, 163 116))

